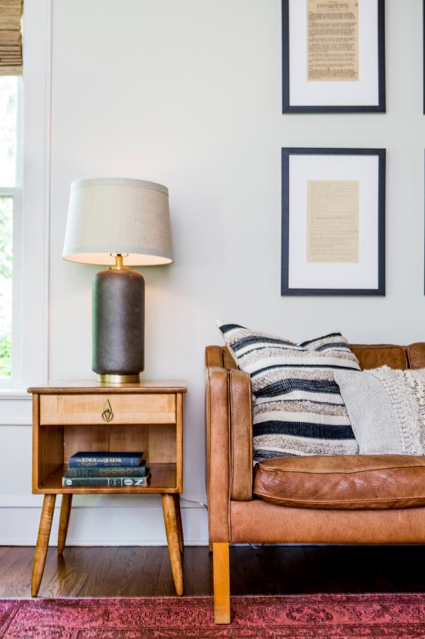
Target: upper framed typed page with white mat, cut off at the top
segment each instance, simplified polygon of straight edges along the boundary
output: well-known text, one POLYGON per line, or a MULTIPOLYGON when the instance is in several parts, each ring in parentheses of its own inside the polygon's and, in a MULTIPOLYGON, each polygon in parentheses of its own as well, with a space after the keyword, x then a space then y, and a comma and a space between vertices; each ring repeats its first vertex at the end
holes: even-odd
POLYGON ((284 113, 385 112, 385 0, 282 0, 284 113))

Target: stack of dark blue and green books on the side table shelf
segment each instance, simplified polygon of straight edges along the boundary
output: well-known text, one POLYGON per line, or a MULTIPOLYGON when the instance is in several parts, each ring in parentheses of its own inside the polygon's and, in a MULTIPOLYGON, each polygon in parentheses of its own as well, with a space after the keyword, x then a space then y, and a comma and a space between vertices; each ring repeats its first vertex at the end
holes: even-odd
POLYGON ((70 457, 62 486, 148 486, 143 452, 77 452, 70 457))

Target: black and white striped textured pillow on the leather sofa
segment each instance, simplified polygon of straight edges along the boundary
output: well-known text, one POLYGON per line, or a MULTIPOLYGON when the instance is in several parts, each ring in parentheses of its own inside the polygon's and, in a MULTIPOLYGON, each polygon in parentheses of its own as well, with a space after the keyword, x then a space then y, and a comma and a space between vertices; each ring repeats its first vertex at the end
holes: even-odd
POLYGON ((238 324, 217 325, 237 365, 251 376, 256 462, 358 452, 333 379, 335 370, 360 370, 341 333, 297 344, 238 324))

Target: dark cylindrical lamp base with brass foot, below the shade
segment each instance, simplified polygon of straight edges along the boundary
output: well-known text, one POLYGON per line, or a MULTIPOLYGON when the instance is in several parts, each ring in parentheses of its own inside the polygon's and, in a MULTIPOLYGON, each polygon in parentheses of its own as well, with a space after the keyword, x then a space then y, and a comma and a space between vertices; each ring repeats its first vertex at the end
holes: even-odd
POLYGON ((93 361, 97 381, 134 383, 144 370, 145 283, 127 268, 93 278, 93 361))

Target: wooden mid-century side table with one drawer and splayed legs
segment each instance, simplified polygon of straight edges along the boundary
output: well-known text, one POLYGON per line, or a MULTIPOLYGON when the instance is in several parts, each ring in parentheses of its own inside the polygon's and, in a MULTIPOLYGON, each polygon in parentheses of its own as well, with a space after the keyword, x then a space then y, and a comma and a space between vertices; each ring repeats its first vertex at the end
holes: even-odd
POLYGON ((181 381, 106 384, 49 383, 32 393, 32 493, 44 495, 32 566, 37 596, 52 528, 56 495, 62 495, 57 551, 66 542, 72 495, 159 494, 177 595, 183 593, 184 540, 179 493, 183 490, 183 394, 181 381), (109 402, 109 406, 108 403, 109 402), (110 410, 108 410, 110 408, 110 410), (68 460, 79 450, 143 450, 152 470, 149 486, 62 486, 68 460))

